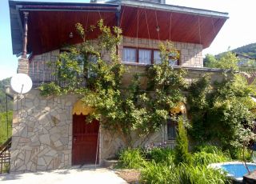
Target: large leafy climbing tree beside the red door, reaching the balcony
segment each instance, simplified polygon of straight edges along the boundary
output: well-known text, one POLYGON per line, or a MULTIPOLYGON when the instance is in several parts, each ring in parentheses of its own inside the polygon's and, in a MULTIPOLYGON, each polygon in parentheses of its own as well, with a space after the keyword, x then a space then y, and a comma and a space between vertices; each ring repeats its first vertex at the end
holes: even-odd
POLYGON ((120 62, 116 50, 122 30, 98 22, 97 29, 102 34, 98 46, 93 46, 86 40, 82 25, 76 27, 82 44, 71 46, 70 53, 60 54, 54 73, 58 82, 43 84, 41 94, 81 94, 86 106, 94 109, 89 118, 97 118, 104 129, 118 132, 125 146, 134 147, 135 141, 143 142, 159 130, 169 118, 170 108, 183 99, 185 72, 169 66, 170 54, 177 55, 177 51, 169 42, 161 44, 162 63, 148 66, 145 74, 130 73, 133 80, 125 87, 122 78, 129 71, 120 62), (105 51, 110 56, 107 61, 102 57, 105 51), (95 58, 94 62, 91 57, 95 58), (79 86, 82 79, 78 76, 86 77, 86 86, 79 86), (148 82, 142 88, 141 78, 145 77, 148 82))

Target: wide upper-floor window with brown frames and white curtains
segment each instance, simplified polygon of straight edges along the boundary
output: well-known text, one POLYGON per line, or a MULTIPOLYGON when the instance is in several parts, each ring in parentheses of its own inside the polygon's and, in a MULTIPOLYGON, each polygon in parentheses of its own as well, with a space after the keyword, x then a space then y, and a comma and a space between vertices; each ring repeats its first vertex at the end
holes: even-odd
MULTIPOLYGON (((160 64, 161 57, 159 50, 150 50, 150 49, 142 49, 142 48, 132 48, 132 47, 124 47, 122 54, 122 62, 134 62, 134 63, 142 63, 146 65, 150 64, 160 64)), ((179 59, 170 54, 169 56, 170 66, 178 66, 179 59)))

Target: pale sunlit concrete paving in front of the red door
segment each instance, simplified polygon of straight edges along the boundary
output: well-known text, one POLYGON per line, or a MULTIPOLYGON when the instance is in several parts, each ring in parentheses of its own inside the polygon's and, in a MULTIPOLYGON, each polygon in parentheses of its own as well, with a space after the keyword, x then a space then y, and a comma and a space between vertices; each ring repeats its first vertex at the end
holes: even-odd
POLYGON ((3 174, 1 184, 78 184, 78 183, 111 183, 126 184, 127 182, 106 168, 79 168, 52 170, 50 172, 3 174))

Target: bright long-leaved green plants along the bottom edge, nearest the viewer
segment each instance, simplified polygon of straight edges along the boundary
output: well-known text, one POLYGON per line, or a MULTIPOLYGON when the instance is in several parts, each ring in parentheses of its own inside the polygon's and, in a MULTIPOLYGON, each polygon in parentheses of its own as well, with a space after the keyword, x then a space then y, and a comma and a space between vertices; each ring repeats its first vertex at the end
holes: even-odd
POLYGON ((224 184, 229 180, 220 170, 206 166, 190 166, 186 164, 162 165, 155 162, 146 164, 141 173, 142 183, 161 184, 224 184))

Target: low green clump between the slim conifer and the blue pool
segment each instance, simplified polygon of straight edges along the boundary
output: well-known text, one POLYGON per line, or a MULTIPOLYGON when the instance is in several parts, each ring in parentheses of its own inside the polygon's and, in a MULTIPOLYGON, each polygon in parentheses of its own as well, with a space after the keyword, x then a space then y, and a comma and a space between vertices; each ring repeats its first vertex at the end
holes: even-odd
POLYGON ((230 161, 224 154, 212 154, 204 151, 192 155, 192 165, 208 166, 210 163, 230 161))

